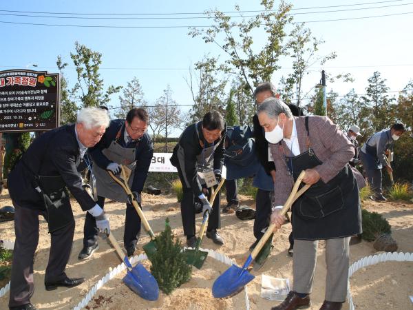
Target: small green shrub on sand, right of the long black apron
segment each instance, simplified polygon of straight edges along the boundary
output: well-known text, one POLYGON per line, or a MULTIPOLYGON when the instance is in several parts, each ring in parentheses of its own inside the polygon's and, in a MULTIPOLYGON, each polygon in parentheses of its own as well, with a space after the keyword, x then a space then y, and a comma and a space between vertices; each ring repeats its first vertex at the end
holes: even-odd
POLYGON ((388 220, 377 212, 370 212, 366 209, 361 210, 363 234, 361 238, 368 242, 374 241, 381 234, 391 234, 392 229, 388 220))

